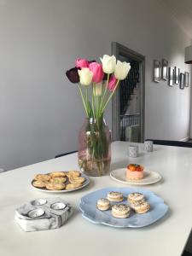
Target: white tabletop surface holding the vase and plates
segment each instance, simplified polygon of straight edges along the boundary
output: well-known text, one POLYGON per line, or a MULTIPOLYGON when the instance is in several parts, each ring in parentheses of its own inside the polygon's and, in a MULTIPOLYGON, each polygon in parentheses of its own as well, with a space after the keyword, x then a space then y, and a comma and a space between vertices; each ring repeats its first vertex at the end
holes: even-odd
POLYGON ((127 157, 128 143, 113 143, 112 169, 136 162, 160 172, 163 181, 145 188, 166 201, 170 209, 165 218, 142 229, 91 224, 79 212, 80 198, 96 189, 125 184, 109 176, 90 177, 89 187, 59 194, 75 207, 67 224, 57 230, 22 231, 14 220, 15 208, 35 198, 55 196, 32 189, 32 177, 39 172, 78 169, 77 154, 71 154, 0 174, 0 255, 181 255, 192 226, 192 148, 156 145, 148 154, 143 144, 140 149, 140 156, 133 160, 127 157))

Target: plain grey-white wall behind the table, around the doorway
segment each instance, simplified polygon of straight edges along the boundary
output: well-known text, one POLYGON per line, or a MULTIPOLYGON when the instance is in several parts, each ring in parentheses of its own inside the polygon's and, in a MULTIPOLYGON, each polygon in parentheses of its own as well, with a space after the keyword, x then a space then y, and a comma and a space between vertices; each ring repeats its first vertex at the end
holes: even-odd
MULTIPOLYGON (((84 119, 64 71, 120 44, 146 56, 146 137, 189 134, 189 89, 152 82, 154 59, 183 64, 190 38, 154 0, 0 0, 0 166, 46 160, 77 148, 84 119)), ((108 123, 111 111, 108 108, 108 123)))

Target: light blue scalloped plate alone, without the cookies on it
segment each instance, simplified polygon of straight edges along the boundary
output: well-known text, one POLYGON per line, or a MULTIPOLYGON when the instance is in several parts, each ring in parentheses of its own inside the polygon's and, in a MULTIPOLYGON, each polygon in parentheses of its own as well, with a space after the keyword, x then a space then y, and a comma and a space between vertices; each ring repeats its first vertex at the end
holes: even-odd
MULTIPOLYGON (((117 204, 116 202, 112 204, 117 204)), ((153 224, 158 219, 162 218, 168 207, 165 202, 153 192, 148 189, 134 189, 134 188, 107 188, 100 189, 88 195, 84 195, 80 201, 79 208, 83 212, 82 216, 94 224, 105 224, 115 228, 142 228, 153 224), (148 203, 150 210, 143 214, 131 212, 129 218, 114 218, 111 210, 100 211, 96 208, 96 201, 100 198, 106 198, 109 191, 117 191, 124 195, 124 201, 120 203, 128 204, 127 195, 133 192, 142 193, 148 203)))

